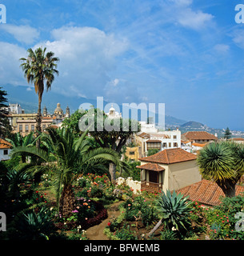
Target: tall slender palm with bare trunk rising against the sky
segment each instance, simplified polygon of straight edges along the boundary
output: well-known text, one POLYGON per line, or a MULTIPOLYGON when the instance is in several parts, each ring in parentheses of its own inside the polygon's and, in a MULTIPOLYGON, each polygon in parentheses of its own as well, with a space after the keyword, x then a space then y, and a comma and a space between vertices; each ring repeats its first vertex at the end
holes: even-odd
MULTIPOLYGON (((39 47, 36 50, 31 48, 27 50, 29 54, 27 58, 20 58, 22 61, 21 67, 24 71, 27 82, 34 82, 34 90, 38 94, 38 115, 36 130, 41 132, 41 104, 42 94, 44 91, 44 83, 46 82, 46 91, 48 91, 54 82, 54 74, 58 75, 56 70, 59 58, 54 57, 53 52, 46 53, 46 47, 42 50, 39 47)), ((37 147, 40 146, 40 141, 37 142, 37 147)))

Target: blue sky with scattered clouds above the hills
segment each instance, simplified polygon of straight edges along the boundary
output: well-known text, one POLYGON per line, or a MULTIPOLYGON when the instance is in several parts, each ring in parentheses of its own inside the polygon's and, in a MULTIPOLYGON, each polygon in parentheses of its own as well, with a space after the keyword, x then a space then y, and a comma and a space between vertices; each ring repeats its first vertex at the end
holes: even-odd
MULTIPOLYGON (((165 103, 166 114, 244 130, 243 0, 0 0, 0 82, 27 86, 18 58, 60 58, 52 90, 107 102, 165 103)), ((7 89, 6 89, 7 90, 7 89)))

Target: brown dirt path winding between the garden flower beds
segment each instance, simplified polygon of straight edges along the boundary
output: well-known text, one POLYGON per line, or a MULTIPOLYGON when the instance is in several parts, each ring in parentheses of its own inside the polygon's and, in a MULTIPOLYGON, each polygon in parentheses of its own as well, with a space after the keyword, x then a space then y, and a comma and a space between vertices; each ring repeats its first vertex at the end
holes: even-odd
POLYGON ((86 237, 89 240, 110 240, 106 234, 103 234, 103 230, 107 226, 107 223, 112 218, 117 218, 120 214, 118 206, 121 202, 114 202, 107 210, 108 217, 104 219, 99 225, 92 226, 86 230, 86 237))

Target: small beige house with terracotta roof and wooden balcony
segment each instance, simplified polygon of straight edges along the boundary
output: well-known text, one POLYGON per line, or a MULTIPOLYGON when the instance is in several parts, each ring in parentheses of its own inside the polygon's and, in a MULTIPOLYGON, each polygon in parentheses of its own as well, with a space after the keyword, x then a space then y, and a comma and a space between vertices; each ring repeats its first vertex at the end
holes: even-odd
POLYGON ((158 192, 179 190, 202 180, 196 155, 180 148, 167 149, 146 158, 139 158, 142 190, 158 192))

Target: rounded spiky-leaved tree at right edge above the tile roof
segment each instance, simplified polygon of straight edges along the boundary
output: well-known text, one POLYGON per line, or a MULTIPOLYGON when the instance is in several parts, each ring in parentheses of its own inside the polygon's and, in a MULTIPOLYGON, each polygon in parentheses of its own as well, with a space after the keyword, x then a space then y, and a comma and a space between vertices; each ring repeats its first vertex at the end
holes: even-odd
POLYGON ((235 185, 244 174, 244 146, 234 142, 213 142, 197 159, 203 178, 214 180, 226 197, 235 196, 235 185))

